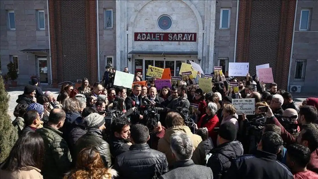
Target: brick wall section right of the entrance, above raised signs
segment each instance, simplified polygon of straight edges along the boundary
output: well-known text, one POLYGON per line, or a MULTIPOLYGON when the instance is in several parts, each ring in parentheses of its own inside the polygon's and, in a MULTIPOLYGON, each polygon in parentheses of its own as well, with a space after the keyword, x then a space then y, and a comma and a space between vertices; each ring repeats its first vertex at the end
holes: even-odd
POLYGON ((287 89, 295 2, 246 0, 239 8, 237 62, 249 62, 252 75, 269 63, 278 88, 287 89))

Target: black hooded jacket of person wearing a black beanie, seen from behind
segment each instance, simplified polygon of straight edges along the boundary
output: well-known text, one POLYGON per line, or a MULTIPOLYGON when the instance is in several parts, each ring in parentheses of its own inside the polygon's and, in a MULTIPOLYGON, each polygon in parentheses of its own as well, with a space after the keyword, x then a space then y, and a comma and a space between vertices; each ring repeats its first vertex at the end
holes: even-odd
POLYGON ((221 179, 231 167, 233 159, 243 155, 243 145, 239 141, 223 143, 210 151, 207 167, 212 169, 213 178, 221 179))

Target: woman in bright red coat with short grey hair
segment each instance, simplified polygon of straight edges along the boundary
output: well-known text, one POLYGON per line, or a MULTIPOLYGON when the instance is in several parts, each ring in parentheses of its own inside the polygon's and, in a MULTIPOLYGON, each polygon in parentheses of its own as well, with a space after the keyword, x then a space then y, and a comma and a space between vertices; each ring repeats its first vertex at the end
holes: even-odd
POLYGON ((218 133, 213 129, 219 126, 218 116, 216 115, 218 106, 214 102, 209 102, 205 108, 205 113, 197 123, 198 128, 206 127, 208 129, 209 137, 211 137, 213 144, 216 146, 218 133))

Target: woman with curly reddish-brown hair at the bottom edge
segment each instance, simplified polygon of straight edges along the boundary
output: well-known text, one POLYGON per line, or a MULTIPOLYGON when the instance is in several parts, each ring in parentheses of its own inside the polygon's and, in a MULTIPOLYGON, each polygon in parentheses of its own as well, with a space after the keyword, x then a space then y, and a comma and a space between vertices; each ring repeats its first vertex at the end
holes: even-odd
POLYGON ((76 160, 76 167, 64 179, 112 179, 117 176, 114 169, 106 168, 100 153, 94 148, 83 148, 76 160))

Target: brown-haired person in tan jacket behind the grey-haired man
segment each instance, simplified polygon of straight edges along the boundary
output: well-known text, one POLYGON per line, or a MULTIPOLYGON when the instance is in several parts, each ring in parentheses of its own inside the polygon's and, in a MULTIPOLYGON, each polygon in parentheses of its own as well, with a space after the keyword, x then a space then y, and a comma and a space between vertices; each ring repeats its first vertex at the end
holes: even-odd
POLYGON ((171 168, 176 162, 176 159, 172 157, 171 148, 169 148, 172 134, 176 132, 186 133, 193 142, 193 149, 197 148, 202 138, 199 135, 192 134, 190 128, 184 125, 184 120, 179 113, 169 112, 166 117, 166 125, 168 129, 163 138, 158 141, 158 151, 163 152, 167 156, 169 167, 171 168))

